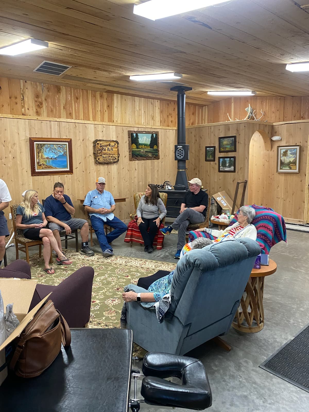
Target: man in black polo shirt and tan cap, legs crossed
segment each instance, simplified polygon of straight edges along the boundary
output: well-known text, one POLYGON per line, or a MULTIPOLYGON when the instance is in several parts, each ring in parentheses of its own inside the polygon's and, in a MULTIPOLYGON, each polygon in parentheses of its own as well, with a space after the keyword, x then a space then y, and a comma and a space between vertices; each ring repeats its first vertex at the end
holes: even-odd
POLYGON ((199 178, 188 180, 189 190, 180 206, 180 215, 171 226, 160 229, 160 232, 170 234, 173 229, 178 230, 177 252, 175 259, 180 258, 180 252, 186 243, 187 227, 194 223, 204 222, 208 206, 208 194, 201 190, 202 182, 199 178))

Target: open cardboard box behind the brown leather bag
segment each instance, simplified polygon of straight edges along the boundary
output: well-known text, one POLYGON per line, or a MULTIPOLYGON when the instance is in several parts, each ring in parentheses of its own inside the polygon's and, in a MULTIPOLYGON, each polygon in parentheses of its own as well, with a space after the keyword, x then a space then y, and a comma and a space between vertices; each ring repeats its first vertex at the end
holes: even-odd
POLYGON ((29 313, 30 303, 35 291, 37 281, 30 279, 16 279, 16 278, 0 278, 0 290, 4 303, 4 310, 6 305, 13 303, 13 311, 19 320, 19 325, 12 332, 12 334, 0 346, 0 385, 7 377, 7 363, 10 355, 14 351, 12 342, 18 337, 26 328, 28 323, 33 319, 33 316, 43 305, 47 297, 41 300, 29 313))

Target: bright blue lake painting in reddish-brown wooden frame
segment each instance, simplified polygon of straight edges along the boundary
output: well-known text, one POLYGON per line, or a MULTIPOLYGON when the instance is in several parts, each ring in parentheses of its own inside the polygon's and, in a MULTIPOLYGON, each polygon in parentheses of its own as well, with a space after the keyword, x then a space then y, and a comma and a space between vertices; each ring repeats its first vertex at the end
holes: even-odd
POLYGON ((29 138, 31 176, 73 174, 72 139, 29 138))

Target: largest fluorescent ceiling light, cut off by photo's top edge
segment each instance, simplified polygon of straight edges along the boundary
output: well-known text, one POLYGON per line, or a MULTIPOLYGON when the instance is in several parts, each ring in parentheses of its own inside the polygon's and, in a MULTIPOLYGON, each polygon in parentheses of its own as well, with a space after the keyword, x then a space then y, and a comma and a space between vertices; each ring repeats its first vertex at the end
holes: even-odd
POLYGON ((214 4, 225 3, 226 1, 227 0, 150 0, 139 5, 134 5, 133 13, 146 17, 146 19, 157 20, 214 4))

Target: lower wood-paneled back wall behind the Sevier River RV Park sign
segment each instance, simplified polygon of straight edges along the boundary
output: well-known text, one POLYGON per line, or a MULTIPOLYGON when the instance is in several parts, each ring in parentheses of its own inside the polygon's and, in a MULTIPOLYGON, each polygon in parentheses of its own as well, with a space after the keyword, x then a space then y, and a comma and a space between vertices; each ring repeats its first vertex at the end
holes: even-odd
MULTIPOLYGON (((38 191, 39 199, 44 199, 52 193, 54 182, 63 182, 77 211, 75 216, 83 217, 84 208, 77 199, 84 199, 89 190, 95 189, 96 178, 103 176, 106 190, 114 197, 128 198, 126 203, 116 204, 115 214, 122 220, 129 219, 129 213, 134 211, 133 193, 143 192, 148 183, 173 182, 177 169, 173 160, 173 147, 177 143, 175 129, 157 129, 159 160, 129 161, 130 129, 130 126, 82 121, 0 117, 0 177, 7 183, 14 203, 20 203, 21 193, 30 188, 38 191), (73 175, 31 176, 29 137, 72 138, 73 175), (94 163, 92 142, 97 138, 118 140, 118 163, 94 163)), ((5 212, 8 218, 9 210, 5 212)))

